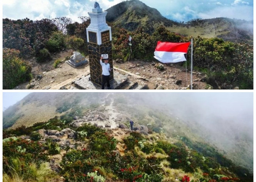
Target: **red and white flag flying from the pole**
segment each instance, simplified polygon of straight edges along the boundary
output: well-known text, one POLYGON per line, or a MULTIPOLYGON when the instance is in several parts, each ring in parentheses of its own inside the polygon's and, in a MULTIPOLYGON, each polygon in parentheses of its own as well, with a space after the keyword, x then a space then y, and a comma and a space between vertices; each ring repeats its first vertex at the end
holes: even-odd
POLYGON ((172 42, 157 42, 154 58, 162 63, 177 63, 186 61, 185 55, 188 52, 190 42, 172 43, 172 42))

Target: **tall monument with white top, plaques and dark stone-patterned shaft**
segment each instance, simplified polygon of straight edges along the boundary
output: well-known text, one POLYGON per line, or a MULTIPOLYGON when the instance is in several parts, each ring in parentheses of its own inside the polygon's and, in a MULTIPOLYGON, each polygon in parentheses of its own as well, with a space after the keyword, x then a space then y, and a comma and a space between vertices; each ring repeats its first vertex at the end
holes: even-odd
MULTIPOLYGON (((89 65, 90 65, 90 80, 91 82, 101 85, 102 83, 102 68, 99 60, 102 55, 109 59, 110 68, 113 68, 112 59, 112 33, 111 27, 106 24, 106 15, 108 12, 103 11, 99 4, 95 2, 92 12, 89 12, 91 23, 86 28, 89 65)), ((110 71, 110 80, 113 80, 113 70, 110 71)))

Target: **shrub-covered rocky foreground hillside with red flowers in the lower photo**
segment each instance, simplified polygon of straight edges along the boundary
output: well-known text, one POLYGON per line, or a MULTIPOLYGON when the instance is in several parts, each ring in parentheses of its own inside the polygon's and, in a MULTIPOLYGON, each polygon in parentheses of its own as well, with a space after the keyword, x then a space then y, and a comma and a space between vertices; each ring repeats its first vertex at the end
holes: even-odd
POLYGON ((4 130, 3 181, 253 181, 248 170, 205 143, 166 137, 152 125, 144 132, 74 127, 71 115, 4 130))

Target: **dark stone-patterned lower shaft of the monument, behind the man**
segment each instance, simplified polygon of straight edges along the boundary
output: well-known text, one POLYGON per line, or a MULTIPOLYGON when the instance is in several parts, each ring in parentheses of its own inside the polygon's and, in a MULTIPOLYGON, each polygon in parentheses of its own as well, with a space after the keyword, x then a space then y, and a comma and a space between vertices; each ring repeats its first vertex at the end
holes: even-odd
MULTIPOLYGON (((89 65, 91 82, 101 86, 102 83, 102 67, 99 62, 102 54, 108 54, 110 68, 113 68, 112 59, 112 41, 108 41, 101 45, 88 43, 89 65)), ((113 80, 113 70, 110 71, 110 80, 113 80)))

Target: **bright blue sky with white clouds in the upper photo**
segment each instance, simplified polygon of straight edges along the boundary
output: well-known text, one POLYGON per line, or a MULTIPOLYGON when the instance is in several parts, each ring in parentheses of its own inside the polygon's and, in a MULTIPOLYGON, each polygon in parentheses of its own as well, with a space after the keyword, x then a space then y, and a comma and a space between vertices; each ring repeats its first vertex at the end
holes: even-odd
MULTIPOLYGON (((123 0, 3 0, 3 18, 40 20, 70 17, 80 22, 97 1, 103 10, 123 0)), ((228 17, 253 20, 253 0, 141 0, 174 21, 228 17)))

